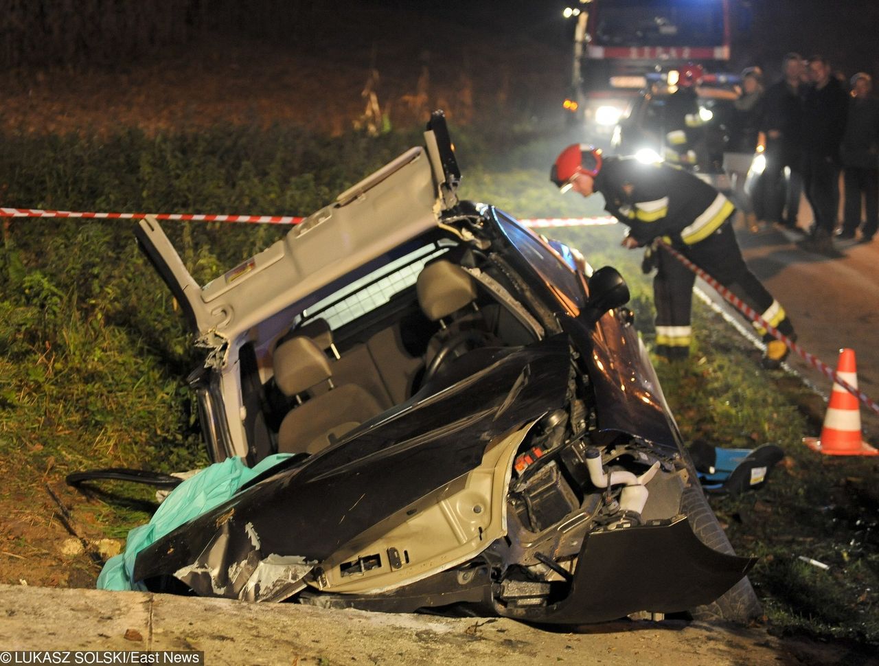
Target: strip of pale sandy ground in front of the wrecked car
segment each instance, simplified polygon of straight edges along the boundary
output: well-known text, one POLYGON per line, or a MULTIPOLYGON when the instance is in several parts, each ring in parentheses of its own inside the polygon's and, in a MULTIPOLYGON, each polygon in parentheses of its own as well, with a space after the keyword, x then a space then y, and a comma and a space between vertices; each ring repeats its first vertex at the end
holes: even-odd
POLYGON ((875 664, 839 645, 782 641, 760 627, 680 620, 538 627, 510 619, 4 585, 0 614, 3 649, 199 650, 209 664, 875 664))

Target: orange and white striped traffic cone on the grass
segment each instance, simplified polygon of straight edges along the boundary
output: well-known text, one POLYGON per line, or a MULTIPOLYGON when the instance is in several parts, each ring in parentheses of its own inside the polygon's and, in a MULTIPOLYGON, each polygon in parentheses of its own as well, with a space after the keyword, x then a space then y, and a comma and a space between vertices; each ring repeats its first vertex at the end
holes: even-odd
MULTIPOLYGON (((858 387, 858 373, 854 365, 854 350, 839 351, 836 373, 841 380, 858 387)), ((803 438, 812 451, 826 455, 876 455, 879 451, 868 445, 861 436, 861 406, 854 395, 835 381, 827 406, 821 437, 803 438)))

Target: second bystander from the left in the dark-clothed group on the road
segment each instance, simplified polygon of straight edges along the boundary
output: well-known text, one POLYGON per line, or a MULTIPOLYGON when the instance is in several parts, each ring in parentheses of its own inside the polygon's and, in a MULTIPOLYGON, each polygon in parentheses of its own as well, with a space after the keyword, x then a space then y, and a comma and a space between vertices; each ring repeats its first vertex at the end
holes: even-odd
POLYGON ((803 56, 786 54, 781 72, 781 81, 769 86, 763 98, 758 150, 764 149, 766 170, 755 204, 762 219, 795 229, 803 192, 803 56))

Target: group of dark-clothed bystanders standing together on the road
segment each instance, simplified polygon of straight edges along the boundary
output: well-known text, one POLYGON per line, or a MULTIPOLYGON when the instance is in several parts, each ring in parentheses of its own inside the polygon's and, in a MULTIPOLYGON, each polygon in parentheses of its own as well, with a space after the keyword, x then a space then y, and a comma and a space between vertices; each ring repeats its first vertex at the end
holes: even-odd
POLYGON ((804 193, 814 223, 801 245, 839 256, 834 236, 868 243, 879 227, 879 100, 872 96, 871 76, 859 72, 846 80, 822 55, 804 61, 786 54, 781 71, 781 80, 766 89, 758 68, 742 73, 737 151, 752 155, 756 149, 765 168, 752 170, 750 196, 739 192, 739 207, 752 230, 766 221, 799 231, 804 193))

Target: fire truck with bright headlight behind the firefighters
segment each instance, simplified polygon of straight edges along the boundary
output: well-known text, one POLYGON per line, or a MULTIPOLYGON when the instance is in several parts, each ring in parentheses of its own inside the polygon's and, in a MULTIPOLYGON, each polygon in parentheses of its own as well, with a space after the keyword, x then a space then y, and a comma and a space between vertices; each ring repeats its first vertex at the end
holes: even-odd
POLYGON ((574 63, 564 107, 586 139, 606 144, 648 77, 730 60, 730 0, 578 0, 574 63))

